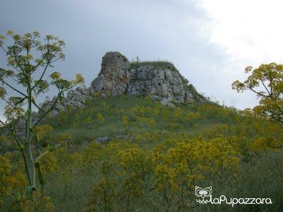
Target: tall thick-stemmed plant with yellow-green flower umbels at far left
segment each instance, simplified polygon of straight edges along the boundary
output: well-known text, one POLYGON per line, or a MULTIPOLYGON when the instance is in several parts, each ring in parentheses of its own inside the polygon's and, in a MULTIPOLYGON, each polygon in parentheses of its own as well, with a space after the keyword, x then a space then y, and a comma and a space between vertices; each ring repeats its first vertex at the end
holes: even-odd
MULTIPOLYGON (((83 77, 76 75, 76 79, 67 81, 60 73, 53 72, 48 76, 47 72, 53 68, 56 61, 64 59, 62 48, 64 41, 59 37, 47 35, 40 40, 40 33, 33 32, 25 35, 17 35, 8 30, 8 44, 5 44, 6 37, 0 35, 0 47, 6 52, 8 69, 0 69, 0 98, 6 102, 6 122, 0 121, 1 125, 8 129, 13 141, 16 142, 23 156, 25 173, 28 178, 28 196, 32 196, 37 189, 36 173, 40 184, 43 184, 39 160, 43 155, 52 151, 52 146, 47 145, 37 153, 32 148, 33 143, 38 143, 40 136, 35 129, 49 114, 54 105, 61 100, 65 91, 83 83, 83 77), (54 98, 52 106, 43 111, 37 104, 37 100, 51 86, 57 88, 57 97, 54 98), (15 96, 6 95, 15 93, 15 96), (39 110, 37 119, 33 120, 33 110, 39 110), (15 126, 19 119, 25 121, 25 136, 19 136, 15 126), (36 172, 37 171, 37 172, 36 172)), ((41 136, 42 137, 42 136, 41 136)))

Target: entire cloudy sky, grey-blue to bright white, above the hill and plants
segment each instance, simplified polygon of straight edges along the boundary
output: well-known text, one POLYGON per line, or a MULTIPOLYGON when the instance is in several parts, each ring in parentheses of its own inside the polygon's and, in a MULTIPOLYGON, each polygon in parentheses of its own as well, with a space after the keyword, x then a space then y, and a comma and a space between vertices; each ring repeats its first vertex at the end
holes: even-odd
MULTIPOLYGON (((86 86, 105 52, 121 52, 130 61, 167 59, 200 93, 243 109, 256 98, 236 93, 231 83, 246 77, 248 65, 282 63, 282 2, 1 0, 0 34, 59 36, 67 59, 57 71, 67 78, 82 73, 86 86)), ((0 54, 0 67, 5 64, 0 54)))

